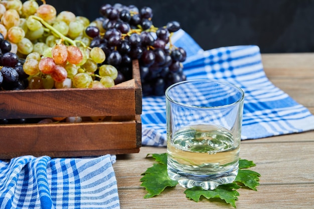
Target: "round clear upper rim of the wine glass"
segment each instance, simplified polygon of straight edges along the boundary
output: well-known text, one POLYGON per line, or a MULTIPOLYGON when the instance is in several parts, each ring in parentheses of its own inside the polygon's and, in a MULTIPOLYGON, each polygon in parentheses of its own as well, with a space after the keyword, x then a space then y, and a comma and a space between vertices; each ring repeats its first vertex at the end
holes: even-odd
POLYGON ((229 82, 226 82, 226 81, 218 81, 218 80, 213 80, 213 79, 193 79, 193 80, 186 80, 186 81, 180 81, 180 82, 177 82, 177 83, 174 83, 172 85, 170 85, 166 91, 165 91, 165 96, 166 96, 166 99, 169 100, 170 102, 172 102, 173 104, 176 104, 176 105, 180 105, 180 106, 183 106, 183 107, 189 107, 189 108, 194 108, 194 109, 217 109, 217 108, 228 108, 228 107, 231 107, 231 106, 234 106, 236 104, 239 104, 241 103, 243 100, 244 100, 244 91, 237 87, 236 85, 232 84, 232 83, 229 83, 229 82), (181 103, 181 102, 178 102, 178 101, 175 101, 173 100, 169 95, 168 95, 168 92, 176 87, 176 86, 179 86, 181 84, 184 84, 184 83, 192 83, 192 82, 208 82, 208 83, 218 83, 218 84, 223 84, 225 86, 230 86, 236 90, 238 90, 240 93, 241 93, 241 98, 238 99, 237 101, 233 102, 233 103, 230 103, 230 104, 226 104, 226 105, 221 105, 221 106, 212 106, 212 107, 201 107, 201 106, 196 106, 196 105, 188 105, 188 104, 184 104, 184 103, 181 103))

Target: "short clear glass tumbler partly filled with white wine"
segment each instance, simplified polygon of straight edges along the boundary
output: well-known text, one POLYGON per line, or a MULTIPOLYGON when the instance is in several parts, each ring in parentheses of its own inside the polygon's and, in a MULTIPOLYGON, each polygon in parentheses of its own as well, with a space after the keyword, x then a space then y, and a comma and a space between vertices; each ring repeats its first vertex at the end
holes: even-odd
POLYGON ((244 92, 216 80, 188 80, 166 90, 168 175, 185 188, 234 181, 244 92))

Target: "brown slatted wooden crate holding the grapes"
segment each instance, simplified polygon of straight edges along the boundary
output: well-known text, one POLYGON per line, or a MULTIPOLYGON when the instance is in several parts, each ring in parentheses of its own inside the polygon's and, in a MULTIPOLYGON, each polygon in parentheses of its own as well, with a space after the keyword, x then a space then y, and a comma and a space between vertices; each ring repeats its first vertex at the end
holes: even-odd
POLYGON ((110 118, 0 125, 0 159, 136 153, 141 146, 141 102, 137 61, 133 61, 133 78, 111 88, 0 91, 0 118, 110 118))

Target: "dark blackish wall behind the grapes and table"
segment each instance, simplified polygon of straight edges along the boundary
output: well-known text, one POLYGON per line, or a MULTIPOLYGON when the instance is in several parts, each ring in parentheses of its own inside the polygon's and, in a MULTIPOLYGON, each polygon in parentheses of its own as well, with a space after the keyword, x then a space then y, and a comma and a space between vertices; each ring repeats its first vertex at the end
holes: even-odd
POLYGON ((46 0, 90 20, 103 4, 151 7, 156 27, 178 21, 204 49, 257 45, 262 53, 314 51, 314 0, 46 0))

